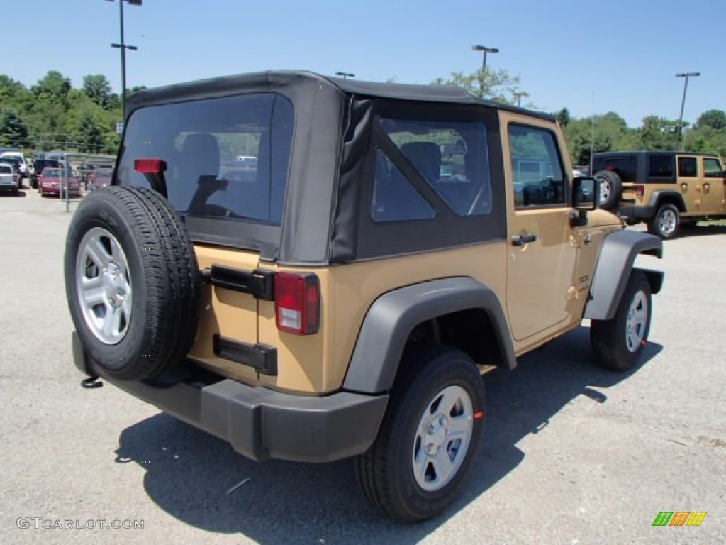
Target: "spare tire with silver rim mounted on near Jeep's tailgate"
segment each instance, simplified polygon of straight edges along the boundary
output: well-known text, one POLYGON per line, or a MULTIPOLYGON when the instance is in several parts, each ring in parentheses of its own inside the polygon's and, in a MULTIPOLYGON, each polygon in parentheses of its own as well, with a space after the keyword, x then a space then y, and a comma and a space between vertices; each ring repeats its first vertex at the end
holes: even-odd
POLYGON ((106 374, 150 379, 189 351, 197 259, 181 217, 158 193, 116 186, 88 195, 68 229, 64 270, 73 324, 106 374))

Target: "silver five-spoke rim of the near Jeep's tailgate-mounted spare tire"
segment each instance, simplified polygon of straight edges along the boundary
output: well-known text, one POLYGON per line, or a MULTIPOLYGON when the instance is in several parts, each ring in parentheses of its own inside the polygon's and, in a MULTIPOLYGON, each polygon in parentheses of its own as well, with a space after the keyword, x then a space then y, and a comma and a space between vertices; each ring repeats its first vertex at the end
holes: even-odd
POLYGON ((89 229, 78 246, 76 294, 97 339, 104 344, 121 342, 131 323, 131 275, 121 245, 102 227, 89 229))

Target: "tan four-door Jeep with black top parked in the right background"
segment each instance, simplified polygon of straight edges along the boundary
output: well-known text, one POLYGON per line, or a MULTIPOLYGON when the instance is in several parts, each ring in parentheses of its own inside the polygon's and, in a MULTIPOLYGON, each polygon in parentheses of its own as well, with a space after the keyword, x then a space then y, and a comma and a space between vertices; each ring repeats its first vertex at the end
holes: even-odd
POLYGON ((677 151, 595 153, 600 207, 667 240, 680 227, 726 218, 726 177, 719 156, 677 151))

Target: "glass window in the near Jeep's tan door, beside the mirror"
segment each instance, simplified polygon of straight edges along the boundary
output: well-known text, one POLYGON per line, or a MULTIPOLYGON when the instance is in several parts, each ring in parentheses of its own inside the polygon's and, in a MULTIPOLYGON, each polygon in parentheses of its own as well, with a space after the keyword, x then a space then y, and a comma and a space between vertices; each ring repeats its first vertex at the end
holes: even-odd
POLYGON ((555 137, 538 127, 510 125, 515 206, 566 202, 566 182, 555 137))

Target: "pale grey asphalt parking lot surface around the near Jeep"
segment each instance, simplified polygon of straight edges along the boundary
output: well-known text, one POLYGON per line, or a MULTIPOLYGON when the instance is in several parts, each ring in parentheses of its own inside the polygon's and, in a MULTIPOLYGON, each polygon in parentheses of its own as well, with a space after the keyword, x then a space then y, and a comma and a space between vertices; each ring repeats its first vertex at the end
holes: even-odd
POLYGON ((595 368, 584 326, 487 374, 473 479, 444 516, 408 526, 365 503, 350 461, 257 464, 110 385, 82 389, 70 215, 33 190, 0 195, 0 542, 726 543, 726 227, 665 244, 635 370, 595 368), (661 511, 707 514, 653 527, 661 511), (73 528, 43 528, 56 521, 73 528))

